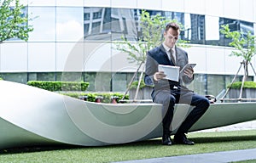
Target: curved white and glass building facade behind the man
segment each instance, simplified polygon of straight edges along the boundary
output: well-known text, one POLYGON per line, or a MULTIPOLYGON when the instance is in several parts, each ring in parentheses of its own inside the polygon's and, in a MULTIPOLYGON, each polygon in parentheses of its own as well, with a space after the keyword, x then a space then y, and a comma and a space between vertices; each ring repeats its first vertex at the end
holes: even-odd
MULTIPOLYGON (((220 33, 256 29, 256 1, 247 0, 28 0, 26 11, 34 31, 28 42, 0 44, 0 75, 9 81, 84 81, 88 91, 125 92, 137 70, 128 54, 115 42, 125 37, 132 43, 142 36, 142 9, 183 24, 181 38, 189 41, 189 61, 196 63, 195 81, 189 87, 201 94, 218 96, 240 66, 230 57, 230 39, 220 33)), ((255 59, 252 61, 255 67, 255 59)), ((241 80, 239 72, 237 80, 241 80)), ((253 71, 249 70, 251 80, 253 71)))

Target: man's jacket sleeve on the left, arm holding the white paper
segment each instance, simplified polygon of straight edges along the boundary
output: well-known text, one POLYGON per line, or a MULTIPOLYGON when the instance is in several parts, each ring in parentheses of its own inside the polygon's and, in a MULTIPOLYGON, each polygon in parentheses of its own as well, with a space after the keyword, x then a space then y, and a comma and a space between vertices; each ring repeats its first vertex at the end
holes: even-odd
POLYGON ((151 57, 150 51, 147 53, 144 82, 148 86, 154 86, 154 73, 158 71, 158 63, 151 57))

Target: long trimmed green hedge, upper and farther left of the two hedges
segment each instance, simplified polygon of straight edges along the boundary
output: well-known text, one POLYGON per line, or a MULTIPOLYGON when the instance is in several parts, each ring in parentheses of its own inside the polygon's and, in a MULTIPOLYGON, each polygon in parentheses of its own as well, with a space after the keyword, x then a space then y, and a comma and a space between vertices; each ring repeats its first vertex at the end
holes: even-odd
POLYGON ((89 82, 50 82, 50 81, 29 81, 26 83, 32 87, 39 87, 48 91, 85 91, 89 82))

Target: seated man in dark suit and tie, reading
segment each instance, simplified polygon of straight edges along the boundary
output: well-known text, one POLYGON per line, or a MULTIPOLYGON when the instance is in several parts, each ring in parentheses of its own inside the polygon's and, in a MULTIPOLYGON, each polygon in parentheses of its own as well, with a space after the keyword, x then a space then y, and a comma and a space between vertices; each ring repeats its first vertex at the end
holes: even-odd
POLYGON ((179 66, 180 70, 182 70, 184 65, 189 63, 188 53, 175 45, 179 33, 180 28, 177 23, 169 23, 164 31, 164 42, 162 42, 160 47, 156 47, 147 53, 144 82, 147 85, 154 85, 152 93, 154 103, 163 104, 163 145, 172 145, 173 143, 194 145, 194 142, 190 141, 185 133, 207 111, 210 104, 207 98, 194 93, 184 86, 184 84, 189 84, 194 80, 194 70, 192 67, 188 67, 180 74, 178 82, 164 79, 166 74, 158 70, 158 65, 175 65, 179 66), (174 142, 172 142, 170 126, 174 105, 177 103, 190 104, 195 106, 195 108, 189 113, 181 126, 178 127, 174 136, 174 142))

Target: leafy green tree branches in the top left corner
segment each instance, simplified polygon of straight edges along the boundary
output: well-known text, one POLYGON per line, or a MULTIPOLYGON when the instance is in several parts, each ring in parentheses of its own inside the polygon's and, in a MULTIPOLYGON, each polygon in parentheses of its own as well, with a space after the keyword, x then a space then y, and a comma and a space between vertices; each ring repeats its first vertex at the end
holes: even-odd
POLYGON ((27 41, 33 28, 27 24, 26 7, 19 0, 0 0, 0 4, 0 44, 10 38, 27 41))

